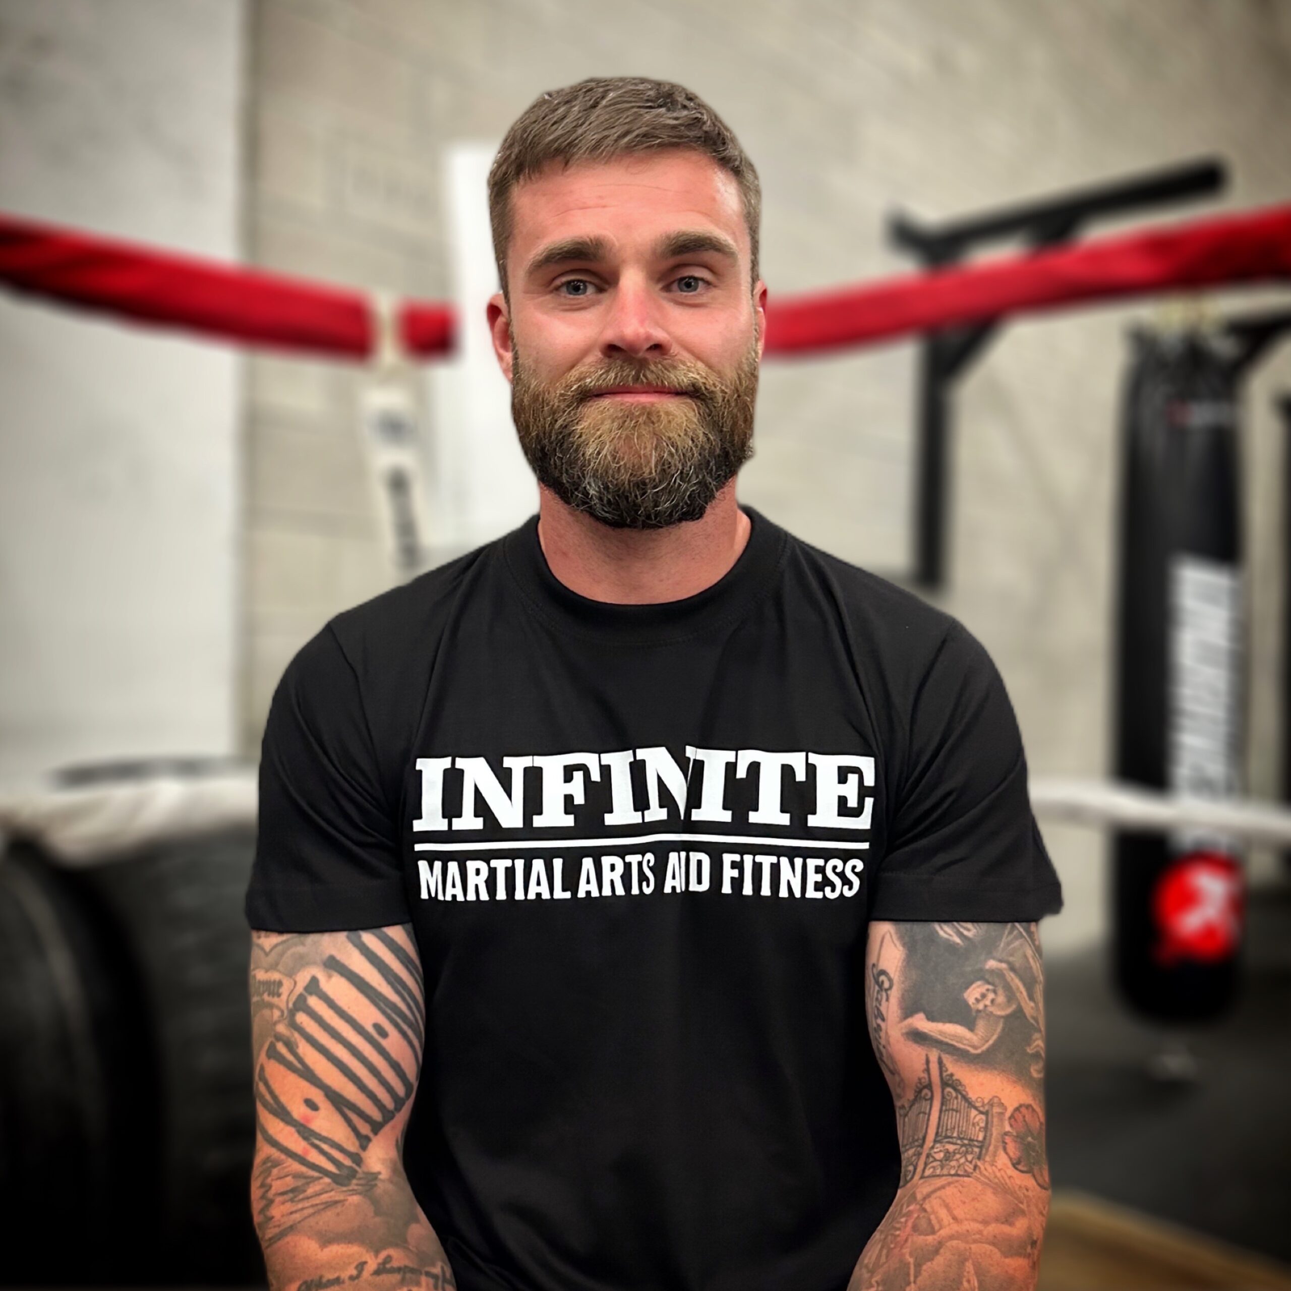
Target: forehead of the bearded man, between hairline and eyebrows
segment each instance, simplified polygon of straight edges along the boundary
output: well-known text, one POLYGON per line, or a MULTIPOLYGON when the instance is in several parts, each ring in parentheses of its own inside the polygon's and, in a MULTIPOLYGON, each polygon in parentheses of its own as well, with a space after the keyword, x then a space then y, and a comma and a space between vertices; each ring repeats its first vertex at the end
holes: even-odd
POLYGON ((676 229, 713 229, 749 254, 740 186, 702 152, 669 150, 553 163, 511 192, 507 258, 523 262, 534 249, 565 238, 603 238, 626 248, 676 229))

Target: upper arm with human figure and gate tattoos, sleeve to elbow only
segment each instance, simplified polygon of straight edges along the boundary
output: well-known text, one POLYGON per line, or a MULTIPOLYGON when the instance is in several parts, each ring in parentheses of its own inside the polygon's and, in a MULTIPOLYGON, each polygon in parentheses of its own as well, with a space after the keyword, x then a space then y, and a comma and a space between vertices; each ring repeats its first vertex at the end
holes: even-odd
POLYGON ((871 923, 865 986, 902 1185, 985 1170, 1047 1189, 1037 926, 871 923))

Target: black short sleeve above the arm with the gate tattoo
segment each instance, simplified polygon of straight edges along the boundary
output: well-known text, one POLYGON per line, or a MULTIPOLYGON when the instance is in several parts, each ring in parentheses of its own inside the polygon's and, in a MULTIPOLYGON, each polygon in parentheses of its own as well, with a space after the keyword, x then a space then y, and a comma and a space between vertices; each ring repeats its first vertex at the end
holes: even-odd
POLYGON ((1004 683, 954 624, 910 707, 887 852, 870 917, 1030 922, 1062 891, 1026 791, 1004 683))

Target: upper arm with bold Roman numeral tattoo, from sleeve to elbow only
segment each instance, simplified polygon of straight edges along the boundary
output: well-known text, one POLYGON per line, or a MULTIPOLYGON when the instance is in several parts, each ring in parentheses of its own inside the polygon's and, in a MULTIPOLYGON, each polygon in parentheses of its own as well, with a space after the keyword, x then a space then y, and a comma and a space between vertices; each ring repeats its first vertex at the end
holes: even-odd
POLYGON ((350 1186, 398 1166, 425 1042, 408 926, 252 935, 257 1155, 350 1186))

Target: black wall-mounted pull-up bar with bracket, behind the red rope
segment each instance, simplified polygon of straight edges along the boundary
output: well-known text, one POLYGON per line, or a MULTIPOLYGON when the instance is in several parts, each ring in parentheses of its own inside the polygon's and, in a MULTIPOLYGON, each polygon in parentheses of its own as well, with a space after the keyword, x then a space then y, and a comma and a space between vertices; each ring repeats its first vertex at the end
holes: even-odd
MULTIPOLYGON (((1224 163, 1205 159, 939 225, 926 225, 896 212, 888 219, 888 238, 926 267, 939 269, 962 259, 985 241, 1022 238, 1032 247, 1052 247, 1069 241, 1082 225, 1100 216, 1208 196, 1221 191, 1225 182, 1224 163)), ((930 591, 944 586, 946 577, 950 389, 998 325, 982 323, 933 332, 923 342, 913 581, 930 591)))

